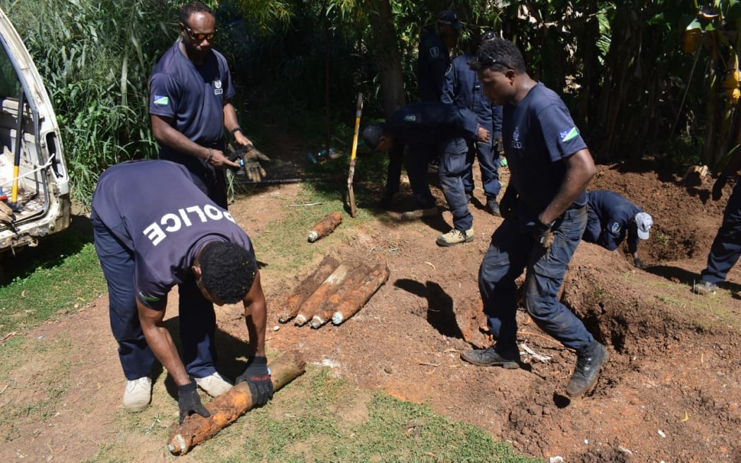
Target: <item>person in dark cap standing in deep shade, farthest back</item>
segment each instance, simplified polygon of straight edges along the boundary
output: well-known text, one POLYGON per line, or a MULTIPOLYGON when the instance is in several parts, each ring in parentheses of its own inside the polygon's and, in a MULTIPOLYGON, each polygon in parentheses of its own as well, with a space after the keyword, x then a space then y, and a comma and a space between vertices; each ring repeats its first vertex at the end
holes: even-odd
POLYGON ((462 27, 456 13, 443 10, 437 16, 436 27, 422 33, 416 64, 419 101, 440 101, 445 70, 451 64, 451 50, 462 27))

